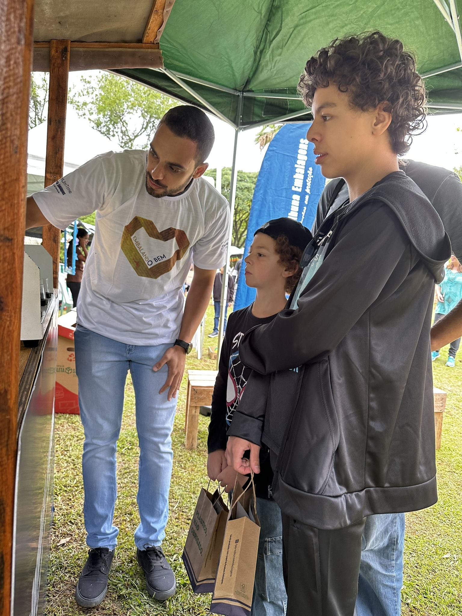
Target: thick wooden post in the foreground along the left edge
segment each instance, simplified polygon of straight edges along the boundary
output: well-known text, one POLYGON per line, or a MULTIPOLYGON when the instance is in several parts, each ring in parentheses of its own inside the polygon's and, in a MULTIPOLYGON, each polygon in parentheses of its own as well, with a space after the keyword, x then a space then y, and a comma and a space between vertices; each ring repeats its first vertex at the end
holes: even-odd
POLYGON ((33 0, 0 0, 0 23, 0 616, 9 616, 33 0))

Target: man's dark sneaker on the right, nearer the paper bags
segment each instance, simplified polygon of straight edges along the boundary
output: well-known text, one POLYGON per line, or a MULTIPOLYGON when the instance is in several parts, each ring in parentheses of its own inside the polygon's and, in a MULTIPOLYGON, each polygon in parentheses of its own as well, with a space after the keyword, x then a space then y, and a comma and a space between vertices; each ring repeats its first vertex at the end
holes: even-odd
POLYGON ((138 564, 144 571, 146 590, 157 601, 165 601, 176 591, 175 574, 165 558, 162 548, 137 549, 138 564))

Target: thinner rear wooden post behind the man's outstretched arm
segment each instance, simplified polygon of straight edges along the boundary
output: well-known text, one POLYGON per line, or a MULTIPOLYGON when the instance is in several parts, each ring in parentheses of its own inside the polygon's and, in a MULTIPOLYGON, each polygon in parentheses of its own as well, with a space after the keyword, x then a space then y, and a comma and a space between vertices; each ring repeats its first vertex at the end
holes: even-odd
MULTIPOLYGON (((45 187, 54 184, 63 175, 70 45, 70 41, 50 41, 45 187)), ((53 225, 46 225, 43 227, 42 238, 44 248, 53 257, 53 286, 57 289, 61 230, 53 225)))

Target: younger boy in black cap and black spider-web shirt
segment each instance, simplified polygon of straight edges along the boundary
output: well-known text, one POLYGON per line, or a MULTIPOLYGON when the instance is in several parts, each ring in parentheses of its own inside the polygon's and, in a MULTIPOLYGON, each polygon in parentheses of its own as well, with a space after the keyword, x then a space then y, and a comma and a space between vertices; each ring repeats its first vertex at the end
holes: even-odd
MULTIPOLYGON (((222 344, 219 371, 212 399, 208 437, 208 476, 232 490, 236 471, 227 466, 225 449, 233 412, 240 401, 251 370, 241 363, 239 343, 246 331, 270 323, 286 305, 286 293, 298 282, 299 261, 312 235, 289 218, 266 222, 254 233, 245 258, 245 281, 256 289, 251 306, 230 314, 222 344)), ((282 521, 280 509, 269 497, 273 481, 269 450, 260 452, 261 472, 255 476, 257 513, 261 522, 252 616, 284 616, 286 592, 282 575, 282 521)), ((238 480, 245 483, 248 477, 238 480)))

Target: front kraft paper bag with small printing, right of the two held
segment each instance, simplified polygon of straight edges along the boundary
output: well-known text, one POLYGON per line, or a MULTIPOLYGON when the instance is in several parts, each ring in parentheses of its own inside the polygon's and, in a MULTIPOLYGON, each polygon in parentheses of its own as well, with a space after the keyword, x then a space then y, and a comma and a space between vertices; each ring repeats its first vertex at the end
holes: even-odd
POLYGON ((249 616, 252 607, 260 522, 255 508, 253 476, 244 491, 233 490, 216 573, 211 614, 249 616), (249 498, 253 488, 253 500, 249 498))

